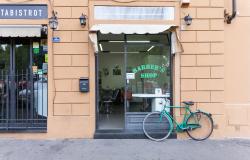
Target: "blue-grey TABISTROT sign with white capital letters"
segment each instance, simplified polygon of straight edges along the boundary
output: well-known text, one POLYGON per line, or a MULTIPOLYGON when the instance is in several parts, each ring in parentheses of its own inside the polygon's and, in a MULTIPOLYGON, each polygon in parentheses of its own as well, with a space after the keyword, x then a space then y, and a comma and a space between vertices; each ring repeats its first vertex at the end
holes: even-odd
POLYGON ((47 5, 0 5, 0 19, 47 19, 47 5))

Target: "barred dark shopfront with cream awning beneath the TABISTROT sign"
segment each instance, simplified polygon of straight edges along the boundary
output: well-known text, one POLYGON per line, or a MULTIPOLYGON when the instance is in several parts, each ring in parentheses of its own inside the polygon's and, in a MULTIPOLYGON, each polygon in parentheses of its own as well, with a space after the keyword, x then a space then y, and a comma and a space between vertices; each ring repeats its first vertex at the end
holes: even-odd
POLYGON ((0 37, 0 131, 46 131, 48 58, 47 37, 43 33, 46 28, 1 26, 1 29, 5 32, 0 37))

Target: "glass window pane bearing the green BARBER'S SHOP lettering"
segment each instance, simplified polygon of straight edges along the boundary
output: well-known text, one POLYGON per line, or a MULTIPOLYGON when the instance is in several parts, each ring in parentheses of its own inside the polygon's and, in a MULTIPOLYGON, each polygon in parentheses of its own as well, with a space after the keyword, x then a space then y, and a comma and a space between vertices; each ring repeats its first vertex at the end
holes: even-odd
POLYGON ((127 39, 135 43, 127 47, 127 112, 160 111, 170 97, 168 36, 131 35, 127 39))

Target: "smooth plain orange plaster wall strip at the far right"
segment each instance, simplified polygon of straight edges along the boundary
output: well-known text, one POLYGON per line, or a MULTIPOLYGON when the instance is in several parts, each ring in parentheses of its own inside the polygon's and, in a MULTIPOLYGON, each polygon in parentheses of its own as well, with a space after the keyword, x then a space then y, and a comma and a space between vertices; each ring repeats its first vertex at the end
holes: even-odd
MULTIPOLYGON (((231 13, 231 1, 225 0, 231 13)), ((225 111, 228 137, 250 137, 250 2, 237 0, 237 17, 225 24, 225 111)))

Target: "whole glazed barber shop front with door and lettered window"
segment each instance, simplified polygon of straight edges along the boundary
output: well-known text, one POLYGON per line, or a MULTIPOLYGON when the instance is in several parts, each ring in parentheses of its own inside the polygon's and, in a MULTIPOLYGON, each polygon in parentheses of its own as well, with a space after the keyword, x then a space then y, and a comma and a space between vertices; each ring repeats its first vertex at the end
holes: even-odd
MULTIPOLYGON (((129 27, 133 26, 124 28, 129 27)), ((143 34, 97 32, 97 138, 102 133, 143 136, 146 114, 172 103, 173 35, 169 28, 143 34)))

